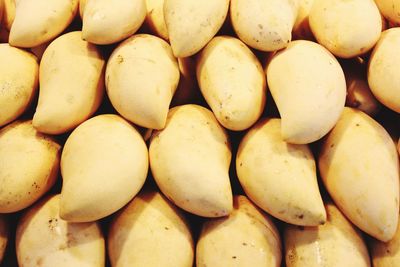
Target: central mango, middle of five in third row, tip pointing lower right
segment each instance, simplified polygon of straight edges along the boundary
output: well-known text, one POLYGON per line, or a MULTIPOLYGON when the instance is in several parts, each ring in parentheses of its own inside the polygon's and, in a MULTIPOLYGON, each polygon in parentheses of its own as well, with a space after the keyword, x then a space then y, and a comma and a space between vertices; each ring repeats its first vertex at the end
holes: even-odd
POLYGON ((149 153, 158 187, 177 206, 203 217, 232 211, 232 153, 227 133, 210 110, 172 108, 165 128, 153 132, 149 153))

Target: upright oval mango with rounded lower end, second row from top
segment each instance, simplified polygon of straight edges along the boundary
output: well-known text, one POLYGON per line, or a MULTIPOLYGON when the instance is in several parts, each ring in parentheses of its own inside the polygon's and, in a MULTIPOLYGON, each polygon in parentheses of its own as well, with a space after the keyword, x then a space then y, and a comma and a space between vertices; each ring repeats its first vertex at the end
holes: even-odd
POLYGON ((225 128, 242 131, 260 118, 266 101, 265 74, 239 39, 213 38, 199 54, 196 72, 204 98, 225 128))

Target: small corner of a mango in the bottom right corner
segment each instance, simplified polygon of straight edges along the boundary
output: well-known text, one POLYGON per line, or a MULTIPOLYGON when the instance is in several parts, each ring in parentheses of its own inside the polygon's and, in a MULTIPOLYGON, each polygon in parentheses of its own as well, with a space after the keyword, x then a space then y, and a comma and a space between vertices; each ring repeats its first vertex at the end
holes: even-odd
POLYGON ((400 223, 396 235, 387 243, 371 240, 371 258, 374 267, 396 267, 400 265, 400 223))

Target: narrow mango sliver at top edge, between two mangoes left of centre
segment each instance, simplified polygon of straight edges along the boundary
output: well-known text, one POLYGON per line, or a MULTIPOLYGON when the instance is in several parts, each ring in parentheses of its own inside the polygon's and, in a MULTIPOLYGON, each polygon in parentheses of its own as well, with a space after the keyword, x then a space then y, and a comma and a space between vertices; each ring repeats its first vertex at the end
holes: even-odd
POLYGON ((164 19, 164 0, 146 0, 146 8, 146 24, 150 31, 164 40, 168 40, 168 29, 164 19))

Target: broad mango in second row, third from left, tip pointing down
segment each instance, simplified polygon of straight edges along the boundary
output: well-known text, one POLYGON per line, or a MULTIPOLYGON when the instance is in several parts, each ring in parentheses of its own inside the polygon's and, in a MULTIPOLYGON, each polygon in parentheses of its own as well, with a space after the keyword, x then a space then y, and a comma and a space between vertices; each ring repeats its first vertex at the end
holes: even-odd
POLYGON ((152 35, 138 34, 124 41, 107 63, 106 86, 112 105, 142 127, 164 128, 178 83, 178 62, 171 47, 152 35))

